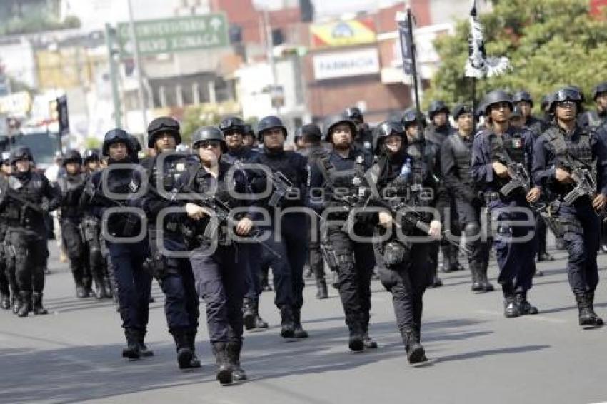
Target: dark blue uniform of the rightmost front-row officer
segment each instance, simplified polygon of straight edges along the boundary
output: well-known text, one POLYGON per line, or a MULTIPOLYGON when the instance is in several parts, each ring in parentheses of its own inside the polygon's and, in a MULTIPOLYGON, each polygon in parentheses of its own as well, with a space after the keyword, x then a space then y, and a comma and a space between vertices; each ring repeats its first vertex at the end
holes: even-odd
POLYGON ((553 215, 558 218, 568 251, 567 272, 569 285, 574 294, 593 293, 598 283, 596 253, 600 233, 600 218, 594 212, 591 198, 581 196, 568 205, 563 197, 573 189, 573 184, 556 181, 556 168, 569 156, 574 160, 596 167, 597 191, 607 195, 606 137, 595 136, 587 128, 576 128, 566 133, 562 128, 549 128, 536 142, 533 158, 533 178, 550 192, 553 215))

